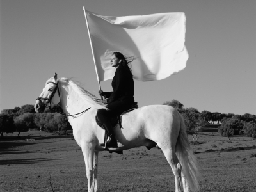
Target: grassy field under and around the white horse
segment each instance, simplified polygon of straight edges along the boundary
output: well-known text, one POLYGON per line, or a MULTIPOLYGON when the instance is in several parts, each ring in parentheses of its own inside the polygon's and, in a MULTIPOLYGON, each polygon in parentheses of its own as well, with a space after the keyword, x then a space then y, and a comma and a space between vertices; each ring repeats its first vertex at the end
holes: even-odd
MULTIPOLYGON (((256 140, 234 136, 228 141, 203 132, 191 148, 201 191, 256 191, 256 140)), ((4 134, 0 170, 0 191, 87 191, 83 154, 72 134, 4 134)), ((157 148, 138 147, 123 155, 100 152, 98 178, 99 191, 175 191, 172 169, 157 148)))

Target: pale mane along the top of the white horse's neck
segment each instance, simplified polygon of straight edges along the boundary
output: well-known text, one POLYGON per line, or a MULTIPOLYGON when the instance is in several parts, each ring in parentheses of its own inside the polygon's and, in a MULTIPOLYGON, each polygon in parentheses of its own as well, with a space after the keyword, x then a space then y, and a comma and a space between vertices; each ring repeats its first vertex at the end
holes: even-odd
POLYGON ((88 105, 93 109, 107 109, 106 104, 104 104, 99 98, 97 98, 92 93, 85 90, 83 87, 81 87, 79 84, 75 83, 74 81, 71 81, 67 78, 61 78, 58 79, 59 81, 65 82, 72 86, 73 90, 78 93, 81 96, 81 99, 84 100, 84 102, 88 103, 88 105))

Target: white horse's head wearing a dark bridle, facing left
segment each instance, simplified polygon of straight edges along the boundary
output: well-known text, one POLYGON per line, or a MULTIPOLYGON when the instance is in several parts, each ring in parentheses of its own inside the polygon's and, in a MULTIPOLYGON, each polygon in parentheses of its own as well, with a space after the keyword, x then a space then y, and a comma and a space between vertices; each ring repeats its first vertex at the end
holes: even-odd
POLYGON ((54 77, 46 81, 43 92, 36 99, 35 111, 36 113, 43 113, 45 108, 51 108, 60 102, 60 90, 57 74, 54 73, 54 77), (56 92, 58 90, 58 92, 56 92))

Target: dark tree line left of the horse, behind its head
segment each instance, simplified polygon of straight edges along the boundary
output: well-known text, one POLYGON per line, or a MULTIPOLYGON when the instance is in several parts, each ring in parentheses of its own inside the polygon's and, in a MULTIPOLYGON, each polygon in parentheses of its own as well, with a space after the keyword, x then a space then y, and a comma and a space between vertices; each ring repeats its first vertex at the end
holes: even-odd
MULTIPOLYGON (((58 107, 56 107, 58 108, 58 107)), ((55 109, 56 109, 55 108, 55 109)), ((58 110, 61 110, 58 108, 58 110)), ((62 110, 61 110, 62 111, 62 110)), ((29 129, 35 128, 40 131, 55 132, 72 129, 67 117, 59 113, 52 113, 49 109, 44 113, 36 113, 34 106, 26 104, 24 106, 15 107, 14 109, 4 109, 0 114, 0 134, 4 133, 27 132, 29 129)))

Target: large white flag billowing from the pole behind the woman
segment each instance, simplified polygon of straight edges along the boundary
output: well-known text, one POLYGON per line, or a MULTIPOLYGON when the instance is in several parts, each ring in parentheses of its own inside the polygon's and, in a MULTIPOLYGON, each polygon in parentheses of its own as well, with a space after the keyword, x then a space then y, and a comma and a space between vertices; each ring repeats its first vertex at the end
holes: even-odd
POLYGON ((113 52, 134 57, 132 74, 140 81, 164 79, 186 67, 186 17, 182 12, 111 17, 84 10, 99 81, 112 79, 113 52))

